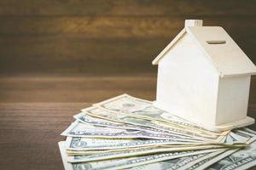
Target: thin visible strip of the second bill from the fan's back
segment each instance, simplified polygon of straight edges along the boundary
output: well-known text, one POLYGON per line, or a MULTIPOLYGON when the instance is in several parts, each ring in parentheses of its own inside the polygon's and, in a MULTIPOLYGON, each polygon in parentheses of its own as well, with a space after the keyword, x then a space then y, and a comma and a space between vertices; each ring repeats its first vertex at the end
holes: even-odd
POLYGON ((161 126, 160 124, 157 124, 154 121, 140 119, 140 118, 132 117, 132 116, 128 116, 128 115, 115 114, 115 113, 112 113, 109 111, 103 111, 96 107, 89 107, 82 111, 84 111, 84 114, 86 114, 86 115, 98 117, 98 118, 105 119, 105 120, 108 120, 111 122, 121 122, 121 123, 141 126, 141 127, 150 127, 151 129, 155 128, 155 129, 160 130, 161 133, 182 134, 184 136, 193 137, 195 139, 208 140, 211 142, 221 142, 225 138, 225 136, 207 134, 207 133, 203 133, 200 131, 194 132, 194 131, 189 131, 189 129, 184 129, 184 128, 180 128, 180 127, 161 126))

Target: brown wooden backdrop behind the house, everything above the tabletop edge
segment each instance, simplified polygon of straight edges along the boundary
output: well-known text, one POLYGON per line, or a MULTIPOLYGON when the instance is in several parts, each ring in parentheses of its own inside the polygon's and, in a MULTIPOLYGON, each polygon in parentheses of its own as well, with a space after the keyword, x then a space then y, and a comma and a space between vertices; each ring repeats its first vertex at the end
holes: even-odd
MULTIPOLYGON (((154 99, 157 67, 151 60, 185 19, 223 26, 256 63, 255 5, 255 0, 2 0, 0 101, 83 102, 124 92, 154 99)), ((252 87, 250 101, 254 82, 252 87)))

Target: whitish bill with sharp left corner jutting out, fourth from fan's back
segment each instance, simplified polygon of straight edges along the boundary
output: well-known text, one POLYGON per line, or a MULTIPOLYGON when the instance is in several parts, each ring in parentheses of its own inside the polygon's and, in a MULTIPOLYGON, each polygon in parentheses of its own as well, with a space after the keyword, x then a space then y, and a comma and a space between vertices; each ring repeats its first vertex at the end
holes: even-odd
POLYGON ((184 142, 200 142, 196 139, 189 139, 188 137, 168 135, 162 133, 149 133, 143 130, 130 130, 130 129, 118 129, 110 127, 96 127, 90 124, 84 124, 79 121, 73 122, 67 129, 61 133, 64 136, 72 137, 86 137, 86 138, 108 138, 108 139, 175 139, 184 142))

